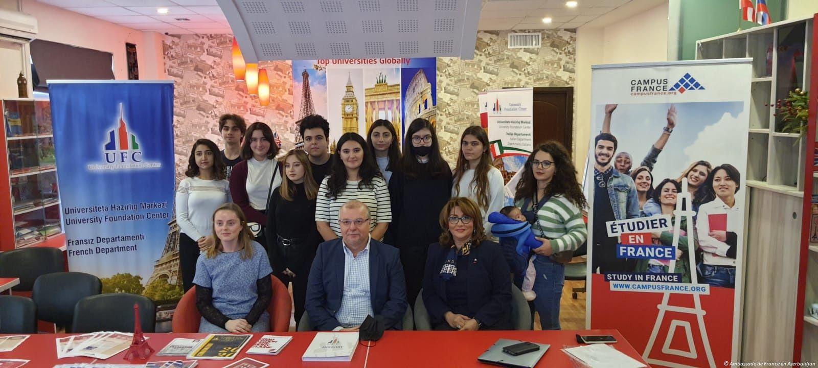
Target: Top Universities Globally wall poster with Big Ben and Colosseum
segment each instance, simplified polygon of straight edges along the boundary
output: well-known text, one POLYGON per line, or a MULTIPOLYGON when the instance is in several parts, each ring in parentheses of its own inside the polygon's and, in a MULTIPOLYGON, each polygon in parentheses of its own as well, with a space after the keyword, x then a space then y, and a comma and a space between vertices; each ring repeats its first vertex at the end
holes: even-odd
MULTIPOLYGON (((345 132, 366 132, 375 120, 393 123, 402 137, 412 120, 437 123, 437 59, 323 59, 293 61, 293 115, 320 114, 330 122, 330 148, 345 132)), ((298 127, 292 132, 296 146, 298 127)))

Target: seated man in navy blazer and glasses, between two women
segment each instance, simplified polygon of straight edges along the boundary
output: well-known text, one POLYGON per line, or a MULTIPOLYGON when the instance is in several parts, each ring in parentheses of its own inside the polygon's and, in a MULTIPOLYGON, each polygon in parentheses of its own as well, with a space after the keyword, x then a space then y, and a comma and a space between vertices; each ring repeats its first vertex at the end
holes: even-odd
POLYGON ((366 316, 400 330, 407 309, 398 249, 371 239, 366 204, 339 210, 341 238, 318 245, 305 309, 316 330, 358 330, 366 316))

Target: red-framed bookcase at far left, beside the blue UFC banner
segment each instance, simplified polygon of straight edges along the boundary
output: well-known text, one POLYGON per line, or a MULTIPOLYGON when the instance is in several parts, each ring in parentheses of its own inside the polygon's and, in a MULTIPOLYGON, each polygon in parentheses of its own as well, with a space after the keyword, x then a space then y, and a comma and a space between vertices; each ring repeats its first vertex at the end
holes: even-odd
POLYGON ((65 249, 48 101, 2 100, 0 251, 27 246, 65 249))

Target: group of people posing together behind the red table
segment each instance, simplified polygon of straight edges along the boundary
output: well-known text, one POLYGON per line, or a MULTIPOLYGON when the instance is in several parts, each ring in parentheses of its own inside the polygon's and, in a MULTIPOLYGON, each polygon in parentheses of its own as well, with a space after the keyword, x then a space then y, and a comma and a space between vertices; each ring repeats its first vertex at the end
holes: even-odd
POLYGON ((435 330, 509 330, 512 279, 521 286, 526 263, 542 328, 560 328, 564 266, 551 255, 587 236, 560 143, 537 146, 517 186, 537 242, 519 262, 492 238, 504 182, 479 126, 462 133, 454 170, 426 119, 409 124, 402 150, 387 120, 366 139, 344 133, 331 153, 320 115, 299 121, 303 150, 286 153, 265 123, 226 114, 219 129, 224 150, 196 141, 176 196, 182 284, 196 286, 200 331, 267 330, 271 275, 292 285, 295 321, 306 312, 318 330, 355 330, 366 316, 399 329, 416 299, 435 330))

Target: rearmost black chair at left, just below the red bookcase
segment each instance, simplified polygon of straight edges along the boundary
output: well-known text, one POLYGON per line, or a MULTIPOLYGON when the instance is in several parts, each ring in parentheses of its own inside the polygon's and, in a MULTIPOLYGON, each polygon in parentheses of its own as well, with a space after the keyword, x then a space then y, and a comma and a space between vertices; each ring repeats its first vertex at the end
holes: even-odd
POLYGON ((16 277, 20 285, 12 291, 31 291, 40 275, 65 271, 62 251, 56 248, 34 247, 0 253, 0 277, 16 277))

